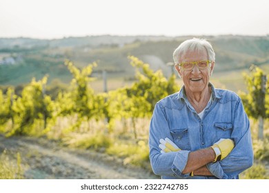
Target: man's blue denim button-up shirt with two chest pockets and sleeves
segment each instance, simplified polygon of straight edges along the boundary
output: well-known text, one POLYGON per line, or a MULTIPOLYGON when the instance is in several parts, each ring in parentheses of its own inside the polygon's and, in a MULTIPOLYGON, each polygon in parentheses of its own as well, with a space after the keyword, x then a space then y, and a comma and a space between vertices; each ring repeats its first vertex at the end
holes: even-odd
POLYGON ((202 119, 190 105, 184 86, 155 105, 150 121, 150 163, 162 179, 238 179, 253 163, 250 123, 241 99, 235 92, 212 90, 212 101, 202 119), (171 139, 179 152, 160 153, 159 139, 171 139), (206 166, 214 176, 182 174, 191 151, 208 148, 219 139, 232 139, 235 148, 223 160, 206 166))

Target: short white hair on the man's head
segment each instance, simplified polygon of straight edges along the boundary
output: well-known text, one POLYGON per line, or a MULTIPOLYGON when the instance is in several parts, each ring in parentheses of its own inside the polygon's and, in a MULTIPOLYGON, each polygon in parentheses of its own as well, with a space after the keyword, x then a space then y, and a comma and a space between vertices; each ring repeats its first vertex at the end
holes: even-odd
POLYGON ((201 52, 204 49, 206 49, 206 52, 208 53, 208 60, 215 61, 215 52, 212 45, 206 39, 197 38, 183 41, 173 53, 174 61, 178 64, 186 52, 201 52))

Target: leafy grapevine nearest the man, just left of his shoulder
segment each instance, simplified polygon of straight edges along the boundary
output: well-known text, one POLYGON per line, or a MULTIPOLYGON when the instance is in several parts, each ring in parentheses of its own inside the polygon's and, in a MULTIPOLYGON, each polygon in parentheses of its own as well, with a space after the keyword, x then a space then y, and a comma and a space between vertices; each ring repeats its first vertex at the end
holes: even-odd
POLYGON ((137 139, 137 119, 149 118, 155 103, 179 88, 175 83, 175 75, 167 80, 161 70, 154 72, 147 63, 136 57, 130 56, 129 59, 130 64, 137 70, 135 83, 130 88, 109 92, 99 103, 103 104, 103 114, 108 119, 110 130, 114 120, 131 118, 133 134, 137 139))

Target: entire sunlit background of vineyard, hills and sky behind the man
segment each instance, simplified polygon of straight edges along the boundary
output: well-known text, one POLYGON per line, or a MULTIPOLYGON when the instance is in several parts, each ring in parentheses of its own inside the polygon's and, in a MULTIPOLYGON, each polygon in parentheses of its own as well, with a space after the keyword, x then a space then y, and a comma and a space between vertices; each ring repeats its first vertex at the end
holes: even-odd
POLYGON ((0 0, 0 179, 159 178, 148 159, 150 117, 183 85, 172 52, 193 37, 216 52, 210 82, 239 94, 250 116, 255 165, 240 177, 268 179, 268 8, 0 0))

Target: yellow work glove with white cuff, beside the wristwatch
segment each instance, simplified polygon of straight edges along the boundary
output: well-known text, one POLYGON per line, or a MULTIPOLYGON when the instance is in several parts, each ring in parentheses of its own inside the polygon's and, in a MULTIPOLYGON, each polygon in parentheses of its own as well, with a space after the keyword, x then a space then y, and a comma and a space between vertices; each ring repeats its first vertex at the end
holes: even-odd
POLYGON ((213 162, 216 162, 225 159, 232 149, 235 148, 235 143, 232 139, 219 139, 219 141, 214 143, 211 148, 214 150, 216 155, 213 162))

